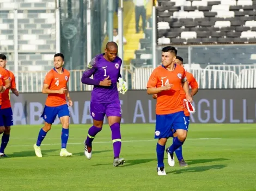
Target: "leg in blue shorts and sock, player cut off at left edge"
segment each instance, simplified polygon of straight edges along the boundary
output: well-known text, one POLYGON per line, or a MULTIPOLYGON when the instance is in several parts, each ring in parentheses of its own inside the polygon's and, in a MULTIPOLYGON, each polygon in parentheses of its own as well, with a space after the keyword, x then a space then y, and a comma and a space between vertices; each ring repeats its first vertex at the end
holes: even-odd
POLYGON ((2 136, 2 143, 0 147, 0 157, 7 157, 4 154, 4 149, 7 147, 7 144, 10 139, 10 130, 11 126, 13 126, 13 111, 11 107, 2 110, 3 122, 4 122, 4 132, 2 136))

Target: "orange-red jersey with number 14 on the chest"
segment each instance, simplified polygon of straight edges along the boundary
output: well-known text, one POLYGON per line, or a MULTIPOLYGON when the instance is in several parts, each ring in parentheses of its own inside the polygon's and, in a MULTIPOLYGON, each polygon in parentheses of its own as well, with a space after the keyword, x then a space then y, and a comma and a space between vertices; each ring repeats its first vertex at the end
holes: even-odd
POLYGON ((170 114, 183 111, 183 104, 180 101, 182 81, 186 81, 186 72, 179 65, 175 65, 174 71, 168 71, 163 66, 154 69, 150 75, 147 88, 173 84, 170 90, 157 93, 156 114, 170 114))

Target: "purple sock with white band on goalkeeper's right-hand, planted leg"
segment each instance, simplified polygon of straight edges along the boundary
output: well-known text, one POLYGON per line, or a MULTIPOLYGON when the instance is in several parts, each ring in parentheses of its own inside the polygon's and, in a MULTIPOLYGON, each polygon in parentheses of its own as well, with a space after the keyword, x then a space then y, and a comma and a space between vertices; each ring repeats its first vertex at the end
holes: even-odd
POLYGON ((113 150, 114 158, 119 158, 121 151, 121 132, 120 132, 120 123, 114 123, 110 126, 112 131, 112 141, 113 141, 113 150))

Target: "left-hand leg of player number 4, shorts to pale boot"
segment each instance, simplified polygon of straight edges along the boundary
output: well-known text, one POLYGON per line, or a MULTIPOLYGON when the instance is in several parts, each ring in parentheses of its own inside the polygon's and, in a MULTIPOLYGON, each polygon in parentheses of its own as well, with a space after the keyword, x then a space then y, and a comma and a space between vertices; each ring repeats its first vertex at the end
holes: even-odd
POLYGON ((35 155, 37 157, 42 157, 41 154, 41 143, 44 141, 44 138, 48 131, 52 128, 52 123, 57 116, 56 107, 45 106, 44 111, 42 112, 41 117, 45 120, 45 125, 40 129, 38 133, 38 139, 34 144, 35 155))

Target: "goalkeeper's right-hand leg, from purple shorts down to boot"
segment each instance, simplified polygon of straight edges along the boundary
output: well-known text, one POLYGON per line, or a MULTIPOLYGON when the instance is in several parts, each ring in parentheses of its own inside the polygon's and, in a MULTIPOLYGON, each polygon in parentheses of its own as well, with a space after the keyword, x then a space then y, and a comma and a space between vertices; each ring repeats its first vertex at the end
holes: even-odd
POLYGON ((114 152, 114 167, 118 167, 120 164, 124 164, 124 158, 120 158, 121 152, 121 105, 120 101, 106 105, 106 115, 108 118, 108 125, 111 129, 111 138, 113 142, 113 152, 114 152))

